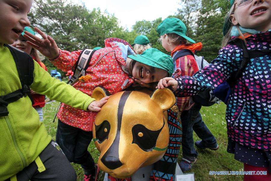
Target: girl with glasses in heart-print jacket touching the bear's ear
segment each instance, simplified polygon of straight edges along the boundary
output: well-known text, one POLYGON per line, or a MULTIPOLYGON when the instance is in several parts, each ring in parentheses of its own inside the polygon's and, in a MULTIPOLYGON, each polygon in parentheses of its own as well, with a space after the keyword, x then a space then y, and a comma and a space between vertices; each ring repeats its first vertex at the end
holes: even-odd
POLYGON ((244 164, 244 171, 265 172, 245 174, 245 181, 271 180, 271 1, 229 2, 217 58, 192 77, 164 78, 157 87, 171 86, 184 97, 229 81, 227 152, 244 164))

